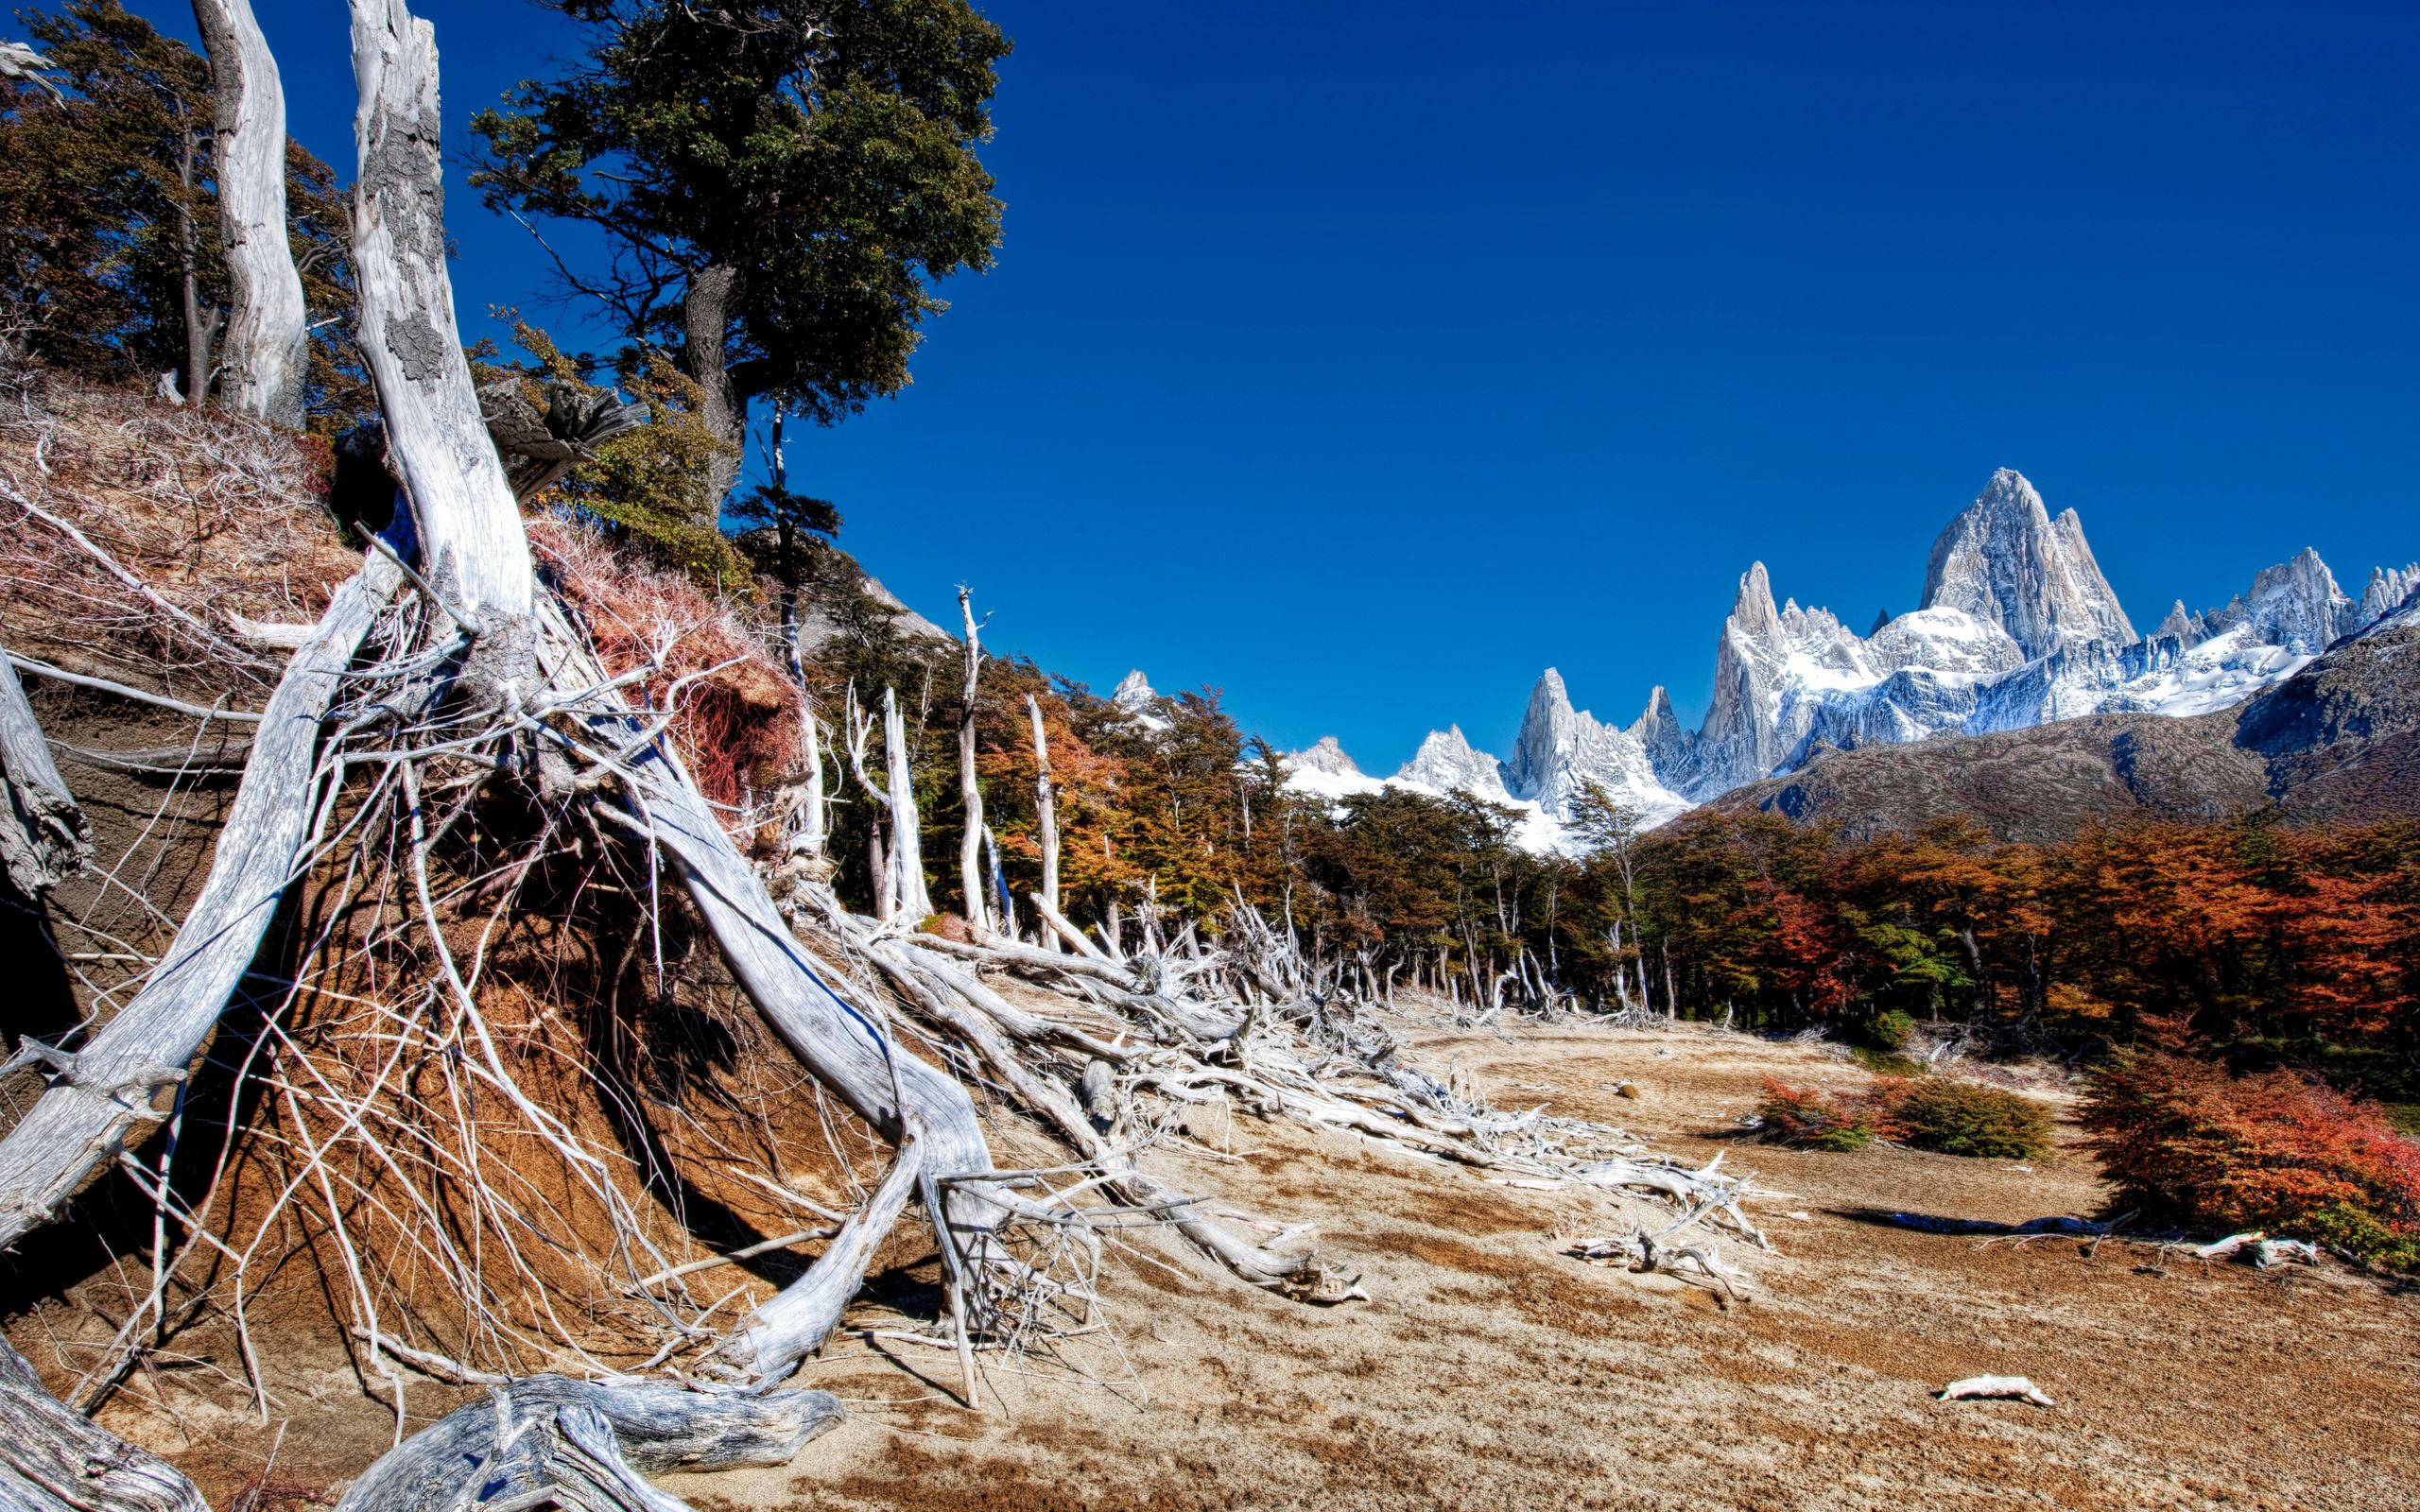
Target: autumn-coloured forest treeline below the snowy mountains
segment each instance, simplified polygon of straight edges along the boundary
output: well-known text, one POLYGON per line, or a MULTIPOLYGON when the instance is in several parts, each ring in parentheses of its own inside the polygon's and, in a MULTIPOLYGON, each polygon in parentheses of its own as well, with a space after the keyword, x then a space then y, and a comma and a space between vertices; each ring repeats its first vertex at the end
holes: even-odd
MULTIPOLYGON (((929 825, 956 825, 946 743, 958 692, 910 641, 842 636, 816 660, 847 682, 934 689, 917 704, 929 825)), ((1517 815, 1406 789, 1290 791, 1215 689, 1137 719, 1031 663, 990 663, 975 709, 1009 893, 1038 885, 1041 694, 1060 786, 1067 912, 1290 917, 1319 953, 1479 1006, 1554 997, 1750 1031, 1883 1014, 1972 1026, 2006 1050, 2098 1057, 2200 1048, 2243 1069, 2326 1067, 2369 1093, 2410 1086, 2420 1026, 2420 823, 2096 825, 2004 844, 1975 823, 1846 839, 1762 810, 1704 808, 1641 832, 1583 803, 1585 854, 1532 854, 1517 815)), ((866 803, 842 806, 840 885, 864 898, 866 803)), ((946 888, 937 893, 946 900, 946 888)))

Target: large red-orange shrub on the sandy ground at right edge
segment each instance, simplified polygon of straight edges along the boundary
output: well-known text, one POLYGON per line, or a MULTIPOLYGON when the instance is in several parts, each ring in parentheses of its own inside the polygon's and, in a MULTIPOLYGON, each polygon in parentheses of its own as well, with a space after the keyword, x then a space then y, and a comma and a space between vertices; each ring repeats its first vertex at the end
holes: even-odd
POLYGON ((2231 1077, 2142 1052, 2093 1074, 2084 1127, 2120 1202, 2420 1270, 2420 1144, 2396 1135, 2376 1103, 2294 1072, 2231 1077))

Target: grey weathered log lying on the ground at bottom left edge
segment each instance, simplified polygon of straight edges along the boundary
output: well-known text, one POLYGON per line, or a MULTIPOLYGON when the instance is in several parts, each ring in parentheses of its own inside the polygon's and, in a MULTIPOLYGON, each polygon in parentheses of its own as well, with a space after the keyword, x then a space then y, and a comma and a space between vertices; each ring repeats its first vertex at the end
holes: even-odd
POLYGON ((828 1391, 738 1396, 523 1377, 390 1449, 336 1507, 670 1512, 687 1502, 646 1485, 636 1471, 789 1464, 837 1420, 840 1401, 828 1391))

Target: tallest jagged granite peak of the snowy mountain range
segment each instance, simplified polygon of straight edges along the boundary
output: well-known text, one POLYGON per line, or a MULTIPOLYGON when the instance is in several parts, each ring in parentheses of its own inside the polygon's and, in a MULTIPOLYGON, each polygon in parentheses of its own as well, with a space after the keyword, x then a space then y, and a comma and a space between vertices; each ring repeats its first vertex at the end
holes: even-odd
POLYGON ((1924 607, 2001 627, 2028 658, 2084 641, 2132 644, 2134 624, 2101 576, 2076 510, 2052 520, 2040 491, 2001 467, 1924 566, 1924 607))

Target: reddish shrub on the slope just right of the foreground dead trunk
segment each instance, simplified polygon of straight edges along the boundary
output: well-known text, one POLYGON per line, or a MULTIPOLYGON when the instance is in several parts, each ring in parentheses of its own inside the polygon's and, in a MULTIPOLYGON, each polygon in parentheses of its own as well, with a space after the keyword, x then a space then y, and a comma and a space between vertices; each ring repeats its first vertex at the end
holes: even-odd
MULTIPOLYGON (((530 544, 588 622, 610 673, 663 663, 632 694, 649 709, 678 697, 673 740, 707 798, 743 808, 801 769, 799 685, 731 605, 571 525, 532 520, 530 544)), ((733 823, 743 827, 748 815, 726 818, 733 823)))

